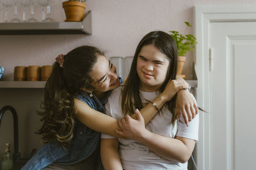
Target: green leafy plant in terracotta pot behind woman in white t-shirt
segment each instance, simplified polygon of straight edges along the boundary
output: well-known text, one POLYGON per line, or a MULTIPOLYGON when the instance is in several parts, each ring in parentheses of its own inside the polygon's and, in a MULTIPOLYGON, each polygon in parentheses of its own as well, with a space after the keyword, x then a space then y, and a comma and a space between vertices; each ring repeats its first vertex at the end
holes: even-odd
MULTIPOLYGON (((191 27, 192 25, 189 24, 189 22, 184 22, 186 24, 186 30, 184 34, 180 34, 178 31, 170 31, 172 38, 175 40, 178 50, 178 68, 177 68, 177 74, 182 74, 182 69, 184 66, 184 62, 186 61, 186 53, 190 50, 195 49, 195 44, 197 43, 195 36, 192 34, 186 34, 186 31, 188 31, 188 27, 191 27)), ((184 78, 185 75, 182 75, 184 78)))

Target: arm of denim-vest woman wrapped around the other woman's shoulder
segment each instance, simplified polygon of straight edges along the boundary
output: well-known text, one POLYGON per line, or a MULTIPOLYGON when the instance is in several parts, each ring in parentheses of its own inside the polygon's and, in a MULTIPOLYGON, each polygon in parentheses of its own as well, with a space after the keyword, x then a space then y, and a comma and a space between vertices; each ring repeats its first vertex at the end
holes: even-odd
MULTIPOLYGON (((158 108, 161 108, 164 103, 175 96, 177 91, 186 87, 188 87, 188 83, 185 81, 169 81, 164 92, 157 96, 152 102, 156 103, 158 108)), ((115 129, 118 129, 118 124, 115 118, 109 117, 97 110, 93 110, 88 104, 77 98, 74 98, 74 103, 76 106, 76 117, 81 123, 97 132, 109 134, 117 138, 126 138, 126 136, 120 136, 115 133, 115 129)), ((145 119, 145 124, 147 124, 154 115, 156 115, 158 110, 156 110, 155 106, 151 103, 148 103, 144 108, 141 108, 140 112, 145 119)), ((131 117, 136 118, 134 114, 131 117)))

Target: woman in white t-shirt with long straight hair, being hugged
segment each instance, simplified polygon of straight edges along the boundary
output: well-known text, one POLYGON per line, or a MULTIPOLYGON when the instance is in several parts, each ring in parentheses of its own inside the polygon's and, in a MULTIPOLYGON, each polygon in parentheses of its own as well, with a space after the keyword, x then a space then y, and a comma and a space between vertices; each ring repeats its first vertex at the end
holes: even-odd
POLYGON ((199 117, 196 115, 188 126, 182 123, 176 111, 176 95, 163 107, 153 100, 170 80, 176 80, 176 73, 175 41, 166 32, 149 32, 136 48, 124 87, 113 90, 105 106, 107 115, 122 118, 118 124, 122 130, 116 133, 129 138, 101 135, 101 158, 106 170, 187 169, 198 140, 199 117), (136 112, 138 120, 129 115, 148 103, 158 113, 145 127, 140 113, 136 112))

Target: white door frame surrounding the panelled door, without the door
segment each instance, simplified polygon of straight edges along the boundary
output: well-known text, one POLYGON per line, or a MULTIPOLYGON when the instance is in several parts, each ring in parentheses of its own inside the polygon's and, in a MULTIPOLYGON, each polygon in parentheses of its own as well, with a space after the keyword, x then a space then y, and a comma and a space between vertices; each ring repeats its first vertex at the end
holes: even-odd
MULTIPOLYGON (((198 106, 210 111, 210 83, 209 83, 209 24, 211 22, 245 22, 256 21, 256 6, 229 5, 229 6, 195 6, 195 36, 196 45, 195 70, 198 78, 196 97, 198 106)), ((211 169, 211 129, 210 117, 207 113, 200 113, 199 141, 196 145, 196 162, 199 169, 211 169)), ((230 129, 228 127, 227 129, 230 129)), ((231 137, 227 136, 227 141, 231 137)), ((230 146, 231 147, 231 146, 230 146)), ((232 165, 231 148, 227 148, 230 153, 228 169, 232 165)))

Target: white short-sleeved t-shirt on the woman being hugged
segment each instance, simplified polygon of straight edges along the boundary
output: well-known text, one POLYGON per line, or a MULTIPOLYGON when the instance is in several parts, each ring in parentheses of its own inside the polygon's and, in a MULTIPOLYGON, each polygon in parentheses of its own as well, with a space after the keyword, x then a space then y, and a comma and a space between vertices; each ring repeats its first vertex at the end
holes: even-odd
MULTIPOLYGON (((113 90, 111 96, 106 103, 106 114, 119 120, 124 117, 122 115, 121 108, 121 93, 122 87, 113 90)), ((159 95, 159 92, 142 92, 140 91, 141 99, 143 103, 147 104, 145 101, 152 101, 159 95)), ((183 118, 181 117, 180 120, 183 118)), ((146 128, 150 132, 159 134, 161 136, 175 138, 175 136, 180 136, 182 138, 189 138, 198 140, 198 125, 199 125, 199 116, 196 115, 189 126, 182 124, 181 122, 175 121, 172 122, 172 113, 168 110, 167 107, 163 107, 160 113, 157 113, 154 118, 146 125, 146 128)), ((109 136, 108 134, 101 134, 101 138, 115 138, 114 136, 109 136)), ((123 169, 125 170, 145 170, 145 169, 187 169, 188 162, 181 164, 179 162, 166 160, 162 157, 159 157, 156 153, 152 152, 146 146, 142 145, 138 141, 133 139, 120 139, 119 141, 119 155, 122 161, 123 169)))

